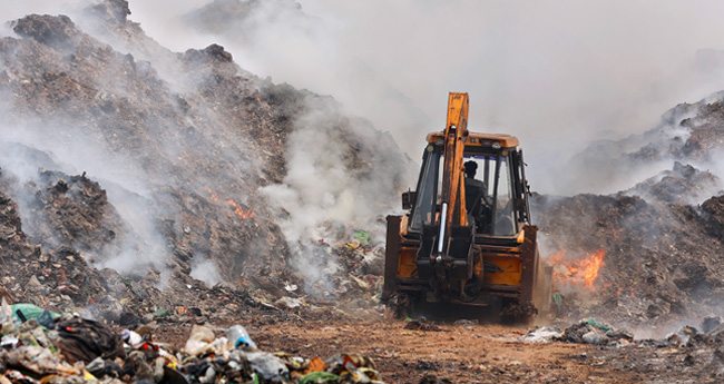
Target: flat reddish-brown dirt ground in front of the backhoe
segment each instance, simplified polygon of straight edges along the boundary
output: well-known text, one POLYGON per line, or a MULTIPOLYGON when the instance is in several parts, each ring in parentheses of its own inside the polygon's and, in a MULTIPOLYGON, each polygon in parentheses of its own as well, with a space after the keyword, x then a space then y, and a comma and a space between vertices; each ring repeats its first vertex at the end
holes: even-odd
POLYGON ((519 341, 525 327, 404 321, 273 324, 250 332, 261 348, 303 356, 360 353, 372 357, 385 383, 722 383, 718 351, 663 342, 595 346, 519 341))

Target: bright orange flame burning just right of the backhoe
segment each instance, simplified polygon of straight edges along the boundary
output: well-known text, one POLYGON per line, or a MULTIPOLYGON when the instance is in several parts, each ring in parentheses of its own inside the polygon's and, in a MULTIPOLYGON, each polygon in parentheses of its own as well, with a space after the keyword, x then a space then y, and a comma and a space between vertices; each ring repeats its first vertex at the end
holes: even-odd
POLYGON ((556 266, 554 280, 560 285, 583 285, 590 291, 596 291, 594 283, 598 278, 598 270, 606 265, 604 263, 605 250, 598 250, 586 258, 565 260, 562 250, 549 258, 549 263, 556 266))

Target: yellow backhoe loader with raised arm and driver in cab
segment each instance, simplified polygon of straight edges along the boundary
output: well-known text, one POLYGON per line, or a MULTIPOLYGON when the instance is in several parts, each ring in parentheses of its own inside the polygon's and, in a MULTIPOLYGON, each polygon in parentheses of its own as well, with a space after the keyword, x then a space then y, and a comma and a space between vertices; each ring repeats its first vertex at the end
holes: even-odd
POLYGON ((509 135, 468 131, 468 93, 450 93, 443 131, 429 134, 404 216, 388 216, 382 298, 495 306, 530 319, 550 301, 551 268, 530 224, 522 150, 509 135))

